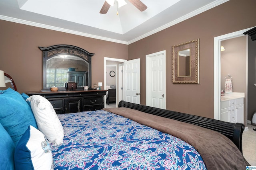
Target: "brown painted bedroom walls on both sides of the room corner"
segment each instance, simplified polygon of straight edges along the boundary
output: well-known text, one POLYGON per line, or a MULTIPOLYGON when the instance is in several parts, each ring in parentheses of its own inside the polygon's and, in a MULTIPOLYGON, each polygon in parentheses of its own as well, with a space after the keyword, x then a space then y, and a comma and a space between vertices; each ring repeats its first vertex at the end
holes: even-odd
POLYGON ((123 45, 0 20, 0 70, 19 92, 42 89, 42 51, 69 44, 92 57, 92 83, 104 82, 104 57, 141 58, 141 104, 146 104, 146 55, 166 50, 166 109, 214 117, 214 37, 255 25, 255 0, 230 0, 130 45, 123 45), (200 38, 200 84, 172 84, 172 46, 200 38))

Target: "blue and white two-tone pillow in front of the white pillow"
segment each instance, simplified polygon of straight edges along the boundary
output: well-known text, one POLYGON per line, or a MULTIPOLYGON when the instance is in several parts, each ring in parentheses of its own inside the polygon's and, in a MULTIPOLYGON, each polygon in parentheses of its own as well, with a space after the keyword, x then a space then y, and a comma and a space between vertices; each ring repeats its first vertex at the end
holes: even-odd
POLYGON ((50 170, 52 152, 42 132, 29 126, 18 142, 14 154, 15 170, 50 170))

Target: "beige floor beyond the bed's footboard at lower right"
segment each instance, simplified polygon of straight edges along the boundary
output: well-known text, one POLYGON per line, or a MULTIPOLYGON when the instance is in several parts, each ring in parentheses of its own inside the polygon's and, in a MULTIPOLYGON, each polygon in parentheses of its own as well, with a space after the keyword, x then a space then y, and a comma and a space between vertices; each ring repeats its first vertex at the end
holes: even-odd
POLYGON ((242 147, 244 158, 252 166, 256 166, 256 131, 252 128, 256 128, 256 126, 248 124, 249 130, 243 132, 242 147))

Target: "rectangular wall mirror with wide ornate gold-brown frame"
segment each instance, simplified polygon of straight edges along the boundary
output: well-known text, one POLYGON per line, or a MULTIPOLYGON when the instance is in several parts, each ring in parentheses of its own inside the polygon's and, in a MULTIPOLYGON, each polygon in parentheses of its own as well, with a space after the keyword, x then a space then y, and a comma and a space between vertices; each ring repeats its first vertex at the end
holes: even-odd
POLYGON ((172 47, 172 83, 199 84, 199 39, 172 47))

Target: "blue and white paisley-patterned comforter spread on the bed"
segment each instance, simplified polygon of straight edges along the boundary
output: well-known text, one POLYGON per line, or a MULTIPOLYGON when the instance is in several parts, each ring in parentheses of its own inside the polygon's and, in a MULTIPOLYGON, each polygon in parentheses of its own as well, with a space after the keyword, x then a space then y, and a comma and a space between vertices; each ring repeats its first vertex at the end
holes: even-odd
POLYGON ((204 170, 188 143, 104 110, 58 115, 64 141, 51 145, 55 170, 204 170))

